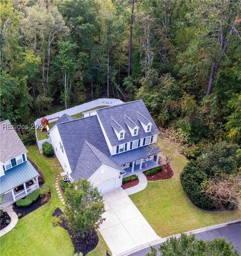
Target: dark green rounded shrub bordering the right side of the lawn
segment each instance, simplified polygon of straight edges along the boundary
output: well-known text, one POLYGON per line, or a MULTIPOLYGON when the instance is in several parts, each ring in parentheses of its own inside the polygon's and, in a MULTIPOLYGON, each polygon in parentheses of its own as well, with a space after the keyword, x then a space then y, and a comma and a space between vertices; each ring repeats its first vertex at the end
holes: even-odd
POLYGON ((183 190, 193 204, 206 210, 216 208, 214 201, 202 193, 201 183, 207 180, 207 174, 202 172, 197 161, 191 160, 186 164, 180 180, 183 190))

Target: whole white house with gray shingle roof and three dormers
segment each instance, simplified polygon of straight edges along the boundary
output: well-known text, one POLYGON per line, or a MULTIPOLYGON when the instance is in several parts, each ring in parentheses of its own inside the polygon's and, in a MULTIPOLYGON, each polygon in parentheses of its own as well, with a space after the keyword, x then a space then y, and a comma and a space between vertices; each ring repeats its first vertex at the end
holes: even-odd
POLYGON ((124 175, 158 166, 159 131, 142 100, 80 119, 65 114, 48 133, 69 179, 86 178, 102 192, 121 187, 124 175))

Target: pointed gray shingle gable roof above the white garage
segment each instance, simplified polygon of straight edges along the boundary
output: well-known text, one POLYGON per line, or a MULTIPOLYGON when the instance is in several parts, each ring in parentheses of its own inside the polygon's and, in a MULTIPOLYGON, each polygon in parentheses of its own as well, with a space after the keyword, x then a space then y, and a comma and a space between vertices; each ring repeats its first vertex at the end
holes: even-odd
POLYGON ((89 142, 84 141, 76 168, 74 172, 71 173, 71 177, 74 181, 81 178, 88 179, 102 164, 106 164, 119 170, 121 173, 125 173, 121 166, 119 166, 89 142))

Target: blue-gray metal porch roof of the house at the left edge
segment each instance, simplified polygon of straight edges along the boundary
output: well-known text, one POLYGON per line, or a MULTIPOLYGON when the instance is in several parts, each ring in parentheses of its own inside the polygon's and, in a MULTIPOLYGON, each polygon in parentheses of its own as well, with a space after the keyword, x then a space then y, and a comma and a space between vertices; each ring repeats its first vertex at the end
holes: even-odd
POLYGON ((39 176, 39 173, 29 161, 6 170, 5 175, 0 177, 0 195, 37 176, 39 176))

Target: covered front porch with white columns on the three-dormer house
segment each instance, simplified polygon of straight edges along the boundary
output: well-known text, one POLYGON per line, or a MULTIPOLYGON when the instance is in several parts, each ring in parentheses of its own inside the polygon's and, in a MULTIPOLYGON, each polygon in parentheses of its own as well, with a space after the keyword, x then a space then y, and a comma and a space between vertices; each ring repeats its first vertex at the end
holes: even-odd
POLYGON ((126 174, 123 177, 125 178, 128 176, 131 176, 135 174, 137 170, 141 170, 142 172, 144 172, 145 170, 155 168, 159 166, 158 161, 159 161, 159 153, 156 155, 150 156, 150 158, 147 157, 147 158, 142 158, 142 159, 133 161, 129 163, 129 167, 124 168, 126 174))

